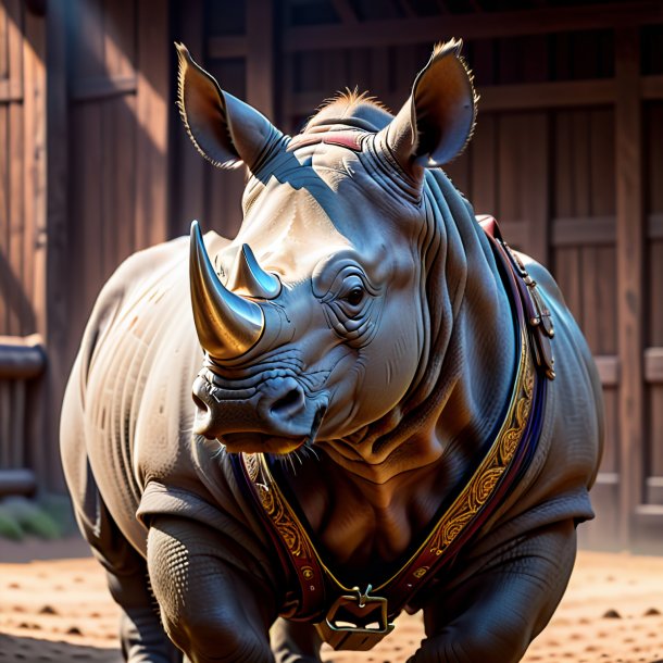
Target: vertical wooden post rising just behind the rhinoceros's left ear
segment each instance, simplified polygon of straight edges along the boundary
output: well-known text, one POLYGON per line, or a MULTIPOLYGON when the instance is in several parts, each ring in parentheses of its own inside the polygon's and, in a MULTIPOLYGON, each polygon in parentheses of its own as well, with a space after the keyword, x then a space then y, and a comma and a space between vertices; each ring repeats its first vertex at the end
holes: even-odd
POLYGON ((247 2, 247 101, 274 117, 274 7, 263 0, 247 2))

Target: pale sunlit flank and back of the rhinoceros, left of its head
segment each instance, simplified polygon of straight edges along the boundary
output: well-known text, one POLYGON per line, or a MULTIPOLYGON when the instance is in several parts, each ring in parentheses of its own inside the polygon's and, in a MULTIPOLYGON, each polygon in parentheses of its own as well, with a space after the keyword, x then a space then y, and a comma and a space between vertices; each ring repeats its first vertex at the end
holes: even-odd
POLYGON ((186 456, 202 351, 187 270, 182 238, 115 272, 95 305, 63 408, 63 465, 79 518, 98 510, 91 502, 100 496, 141 552, 146 529, 136 510, 148 481, 177 474, 185 487, 197 483, 186 456))

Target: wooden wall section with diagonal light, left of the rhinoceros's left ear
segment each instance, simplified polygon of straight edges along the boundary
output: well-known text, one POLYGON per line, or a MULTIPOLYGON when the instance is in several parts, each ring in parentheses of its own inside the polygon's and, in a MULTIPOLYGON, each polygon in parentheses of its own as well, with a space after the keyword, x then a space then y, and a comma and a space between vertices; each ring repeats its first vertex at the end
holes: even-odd
POLYGON ((60 403, 103 283, 168 230, 168 3, 49 2, 46 484, 62 489, 60 403))

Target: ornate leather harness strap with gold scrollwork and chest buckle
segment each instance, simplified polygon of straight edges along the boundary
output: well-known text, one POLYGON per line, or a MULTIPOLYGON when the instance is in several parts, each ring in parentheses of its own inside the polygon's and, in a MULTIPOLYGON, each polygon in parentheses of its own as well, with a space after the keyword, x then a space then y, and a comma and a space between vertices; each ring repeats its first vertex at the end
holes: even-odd
POLYGON ((521 260, 502 240, 495 218, 477 221, 493 247, 518 323, 518 364, 511 402, 495 441, 471 479, 395 575, 376 587, 367 585, 363 591, 346 587, 321 559, 311 535, 272 475, 267 458, 262 453, 233 456, 240 486, 248 488, 286 572, 282 616, 315 623, 334 649, 367 650, 389 634, 393 629, 391 620, 495 513, 536 451, 547 390, 547 380, 540 374, 554 378, 550 311, 521 260))

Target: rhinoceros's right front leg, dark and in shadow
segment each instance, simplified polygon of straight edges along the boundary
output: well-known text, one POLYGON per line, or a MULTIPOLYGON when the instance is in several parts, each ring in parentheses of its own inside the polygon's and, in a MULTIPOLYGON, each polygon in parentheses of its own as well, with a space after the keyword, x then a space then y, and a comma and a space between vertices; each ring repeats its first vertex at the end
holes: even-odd
POLYGON ((493 551, 468 579, 425 606, 427 638, 409 663, 520 661, 560 602, 575 553, 571 521, 493 551))

